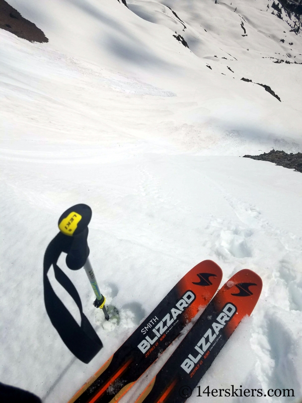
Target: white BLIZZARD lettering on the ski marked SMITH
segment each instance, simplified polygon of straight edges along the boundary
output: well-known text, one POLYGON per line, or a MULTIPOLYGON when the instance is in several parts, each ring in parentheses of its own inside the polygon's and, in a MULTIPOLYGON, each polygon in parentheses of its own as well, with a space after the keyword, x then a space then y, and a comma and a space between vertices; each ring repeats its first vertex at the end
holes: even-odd
MULTIPOLYGON (((188 306, 196 299, 196 295, 192 291, 187 291, 181 299, 175 304, 175 307, 169 312, 152 331, 155 333, 155 338, 151 339, 149 336, 139 343, 137 346, 139 350, 145 354, 149 348, 161 337, 161 335, 171 326, 178 315, 184 312, 188 306)), ((143 329, 142 329, 143 330, 143 329)))

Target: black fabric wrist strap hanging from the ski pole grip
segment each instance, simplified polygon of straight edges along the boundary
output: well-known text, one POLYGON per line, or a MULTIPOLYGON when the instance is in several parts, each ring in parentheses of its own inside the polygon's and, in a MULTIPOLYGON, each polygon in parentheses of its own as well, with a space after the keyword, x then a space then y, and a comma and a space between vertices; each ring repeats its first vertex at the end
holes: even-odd
POLYGON ((43 263, 44 302, 49 319, 66 347, 75 357, 88 364, 102 349, 103 344, 83 312, 82 302, 77 289, 75 289, 69 278, 56 264, 62 252, 68 253, 72 241, 72 237, 67 237, 59 232, 49 243, 45 251, 43 263), (67 291, 79 308, 81 326, 78 325, 51 287, 47 277, 51 265, 53 266, 56 280, 67 291))

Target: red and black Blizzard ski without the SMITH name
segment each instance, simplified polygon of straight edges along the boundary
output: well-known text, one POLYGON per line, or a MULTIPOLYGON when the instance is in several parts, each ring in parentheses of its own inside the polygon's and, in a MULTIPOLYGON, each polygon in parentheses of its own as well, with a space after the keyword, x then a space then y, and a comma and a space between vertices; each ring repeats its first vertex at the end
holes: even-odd
POLYGON ((262 289, 251 270, 236 273, 217 292, 192 329, 135 403, 182 403, 190 397, 262 289))

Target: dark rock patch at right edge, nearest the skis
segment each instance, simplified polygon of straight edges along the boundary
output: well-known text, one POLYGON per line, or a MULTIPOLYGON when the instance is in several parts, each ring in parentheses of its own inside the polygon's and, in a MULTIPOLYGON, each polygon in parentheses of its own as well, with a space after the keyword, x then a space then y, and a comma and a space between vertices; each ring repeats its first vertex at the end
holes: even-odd
POLYGON ((294 169, 297 172, 302 172, 302 153, 287 154, 284 151, 271 150, 269 153, 260 155, 244 155, 246 158, 252 158, 258 161, 274 162, 276 165, 284 168, 294 169))

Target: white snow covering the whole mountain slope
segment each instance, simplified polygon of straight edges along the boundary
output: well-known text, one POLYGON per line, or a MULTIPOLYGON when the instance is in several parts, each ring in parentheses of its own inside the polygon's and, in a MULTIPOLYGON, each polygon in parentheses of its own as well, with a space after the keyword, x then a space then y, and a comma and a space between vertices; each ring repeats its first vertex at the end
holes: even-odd
MULTIPOLYGON (((250 268, 263 291, 201 389, 293 388, 295 398, 257 401, 296 401, 302 176, 241 158, 302 150, 301 65, 270 58, 302 62, 301 36, 289 32, 284 12, 282 21, 264 0, 133 0, 129 9, 116 0, 8 3, 49 42, 0 30, 0 380, 45 402, 67 401, 178 279, 210 258, 222 284, 250 268), (281 102, 242 77, 269 85, 281 102), (93 210, 90 260, 121 312, 120 324, 104 329, 84 270, 68 270, 60 257, 104 344, 88 365, 62 343, 43 300, 45 249, 77 203, 93 210)), ((79 321, 52 271, 49 279, 79 321)), ((172 350, 122 403, 138 397, 172 350)))

